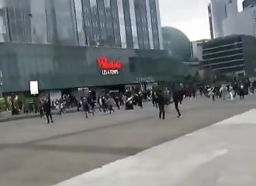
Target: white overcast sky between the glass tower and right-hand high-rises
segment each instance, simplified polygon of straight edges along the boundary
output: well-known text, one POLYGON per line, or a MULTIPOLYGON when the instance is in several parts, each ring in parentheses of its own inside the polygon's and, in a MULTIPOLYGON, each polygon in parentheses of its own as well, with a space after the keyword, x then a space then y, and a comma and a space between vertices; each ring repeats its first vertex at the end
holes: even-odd
MULTIPOLYGON (((239 9, 243 0, 238 0, 239 9)), ((209 0, 159 0, 161 25, 173 26, 184 32, 190 40, 207 39, 209 0)))

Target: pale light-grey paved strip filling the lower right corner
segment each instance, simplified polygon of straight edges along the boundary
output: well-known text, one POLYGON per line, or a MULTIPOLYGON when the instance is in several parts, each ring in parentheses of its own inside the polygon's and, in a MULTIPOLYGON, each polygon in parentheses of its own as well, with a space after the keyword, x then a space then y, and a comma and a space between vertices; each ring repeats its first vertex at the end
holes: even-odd
POLYGON ((251 186, 256 109, 56 186, 251 186))

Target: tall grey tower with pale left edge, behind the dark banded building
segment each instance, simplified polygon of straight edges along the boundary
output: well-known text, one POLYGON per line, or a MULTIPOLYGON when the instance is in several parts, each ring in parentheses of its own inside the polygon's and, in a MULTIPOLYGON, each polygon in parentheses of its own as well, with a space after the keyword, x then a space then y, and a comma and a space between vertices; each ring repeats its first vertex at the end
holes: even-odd
POLYGON ((224 36, 223 19, 226 19, 227 15, 238 12, 237 0, 210 0, 208 12, 211 36, 222 37, 224 36))

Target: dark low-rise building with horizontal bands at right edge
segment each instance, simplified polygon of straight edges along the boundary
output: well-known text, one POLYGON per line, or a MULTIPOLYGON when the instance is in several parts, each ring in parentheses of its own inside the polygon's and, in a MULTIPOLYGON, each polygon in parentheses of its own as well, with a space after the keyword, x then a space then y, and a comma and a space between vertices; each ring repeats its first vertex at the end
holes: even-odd
POLYGON ((217 74, 256 77, 256 38, 234 35, 202 43, 200 68, 217 74))

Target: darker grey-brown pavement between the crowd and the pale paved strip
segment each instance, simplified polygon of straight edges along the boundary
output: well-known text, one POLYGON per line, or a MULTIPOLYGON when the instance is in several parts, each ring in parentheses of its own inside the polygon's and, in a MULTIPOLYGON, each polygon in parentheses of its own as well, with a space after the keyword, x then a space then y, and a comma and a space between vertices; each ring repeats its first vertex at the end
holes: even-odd
POLYGON ((157 110, 120 111, 85 119, 82 113, 56 116, 54 125, 42 119, 0 124, 0 185, 50 186, 175 140, 233 115, 255 108, 256 98, 216 101, 185 100, 182 119, 173 105, 167 119, 157 110))

